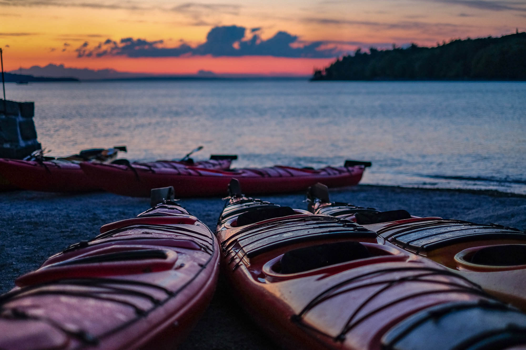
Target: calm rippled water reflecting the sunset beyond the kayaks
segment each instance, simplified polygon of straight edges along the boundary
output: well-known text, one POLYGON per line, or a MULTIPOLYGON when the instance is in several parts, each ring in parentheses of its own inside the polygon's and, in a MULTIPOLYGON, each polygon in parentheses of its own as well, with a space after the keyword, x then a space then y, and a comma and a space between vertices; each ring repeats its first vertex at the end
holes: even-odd
POLYGON ((7 84, 43 147, 210 153, 238 167, 371 160, 362 183, 526 193, 526 83, 155 81, 7 84))

